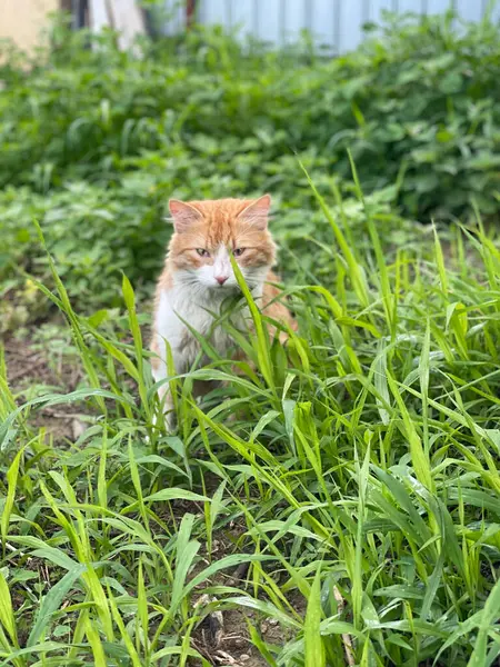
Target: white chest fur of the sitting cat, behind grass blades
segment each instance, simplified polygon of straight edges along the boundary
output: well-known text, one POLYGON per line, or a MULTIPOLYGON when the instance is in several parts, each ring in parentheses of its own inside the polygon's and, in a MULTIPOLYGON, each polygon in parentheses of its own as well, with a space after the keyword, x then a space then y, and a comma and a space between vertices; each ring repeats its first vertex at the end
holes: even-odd
POLYGON ((231 339, 222 327, 214 326, 212 315, 219 311, 220 303, 221 299, 212 298, 209 291, 197 300, 182 287, 173 287, 161 292, 156 330, 163 361, 164 340, 167 340, 172 350, 177 371, 189 370, 200 351, 200 344, 190 331, 190 327, 208 338, 221 356, 224 355, 231 346, 231 339))

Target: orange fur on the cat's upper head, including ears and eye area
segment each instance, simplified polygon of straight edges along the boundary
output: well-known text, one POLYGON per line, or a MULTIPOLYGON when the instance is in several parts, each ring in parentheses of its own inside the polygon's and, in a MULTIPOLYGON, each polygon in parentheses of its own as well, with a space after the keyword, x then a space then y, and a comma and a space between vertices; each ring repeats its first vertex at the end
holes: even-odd
POLYGON ((272 266, 276 246, 268 231, 269 195, 257 200, 216 199, 206 201, 170 201, 174 230, 169 247, 173 268, 199 268, 213 263, 213 253, 223 246, 236 256, 241 267, 272 266), (206 250, 208 256, 199 251, 206 250))

